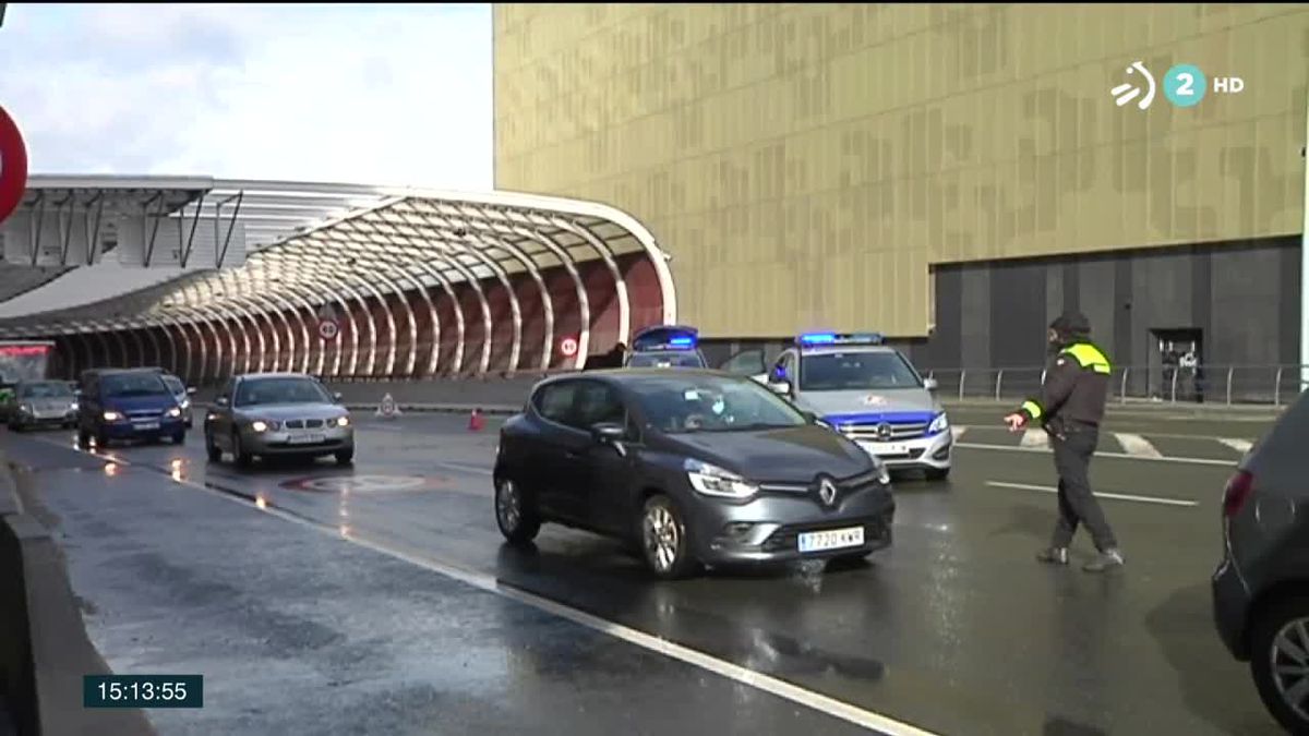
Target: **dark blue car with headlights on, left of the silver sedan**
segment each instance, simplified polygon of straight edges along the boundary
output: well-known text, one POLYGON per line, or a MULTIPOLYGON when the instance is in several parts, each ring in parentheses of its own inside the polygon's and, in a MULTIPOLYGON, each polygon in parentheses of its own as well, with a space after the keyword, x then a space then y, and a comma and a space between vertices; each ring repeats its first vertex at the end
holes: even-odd
POLYGON ((186 419, 158 371, 93 369, 82 373, 77 440, 105 448, 114 440, 186 441, 186 419))

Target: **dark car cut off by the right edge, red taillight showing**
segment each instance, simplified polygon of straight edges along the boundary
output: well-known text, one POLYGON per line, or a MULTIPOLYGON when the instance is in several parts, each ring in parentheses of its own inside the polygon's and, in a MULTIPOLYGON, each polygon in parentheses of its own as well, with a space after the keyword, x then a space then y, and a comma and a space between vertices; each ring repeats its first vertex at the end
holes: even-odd
POLYGON ((1224 555, 1213 574, 1219 635, 1250 663, 1259 697, 1292 733, 1309 732, 1309 393, 1237 466, 1223 494, 1224 555))

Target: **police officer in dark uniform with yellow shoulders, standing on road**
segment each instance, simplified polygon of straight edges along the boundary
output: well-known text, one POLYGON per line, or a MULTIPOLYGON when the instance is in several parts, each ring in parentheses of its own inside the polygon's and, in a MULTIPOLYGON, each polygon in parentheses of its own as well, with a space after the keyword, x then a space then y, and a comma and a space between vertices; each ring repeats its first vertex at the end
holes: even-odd
POLYGON ((1050 435, 1055 452, 1059 520, 1050 547, 1042 550, 1037 559, 1068 564, 1068 545, 1077 525, 1085 524, 1100 554, 1083 570, 1103 572, 1122 566, 1123 555, 1100 503, 1090 492, 1088 471, 1100 441, 1111 368, 1109 358, 1090 342, 1090 321, 1080 313, 1069 312, 1051 322, 1047 338, 1054 355, 1046 367, 1041 396, 1022 402, 1017 411, 1004 418, 1011 432, 1039 422, 1050 435))

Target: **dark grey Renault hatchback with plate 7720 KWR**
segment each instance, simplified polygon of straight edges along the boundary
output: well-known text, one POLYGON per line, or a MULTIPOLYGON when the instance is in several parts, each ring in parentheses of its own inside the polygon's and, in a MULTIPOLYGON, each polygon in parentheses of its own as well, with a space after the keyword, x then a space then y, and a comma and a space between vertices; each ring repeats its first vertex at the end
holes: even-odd
POLYGON ((891 542, 886 469, 745 377, 628 368, 547 378, 503 426, 495 512, 514 543, 555 521, 700 564, 867 557, 891 542))

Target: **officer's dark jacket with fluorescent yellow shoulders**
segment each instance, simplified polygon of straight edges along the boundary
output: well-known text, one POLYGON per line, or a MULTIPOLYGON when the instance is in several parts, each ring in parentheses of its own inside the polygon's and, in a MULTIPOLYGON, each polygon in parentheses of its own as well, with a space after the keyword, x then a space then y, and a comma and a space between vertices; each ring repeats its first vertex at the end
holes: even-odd
POLYGON ((1022 402, 1018 411, 1055 433, 1077 424, 1098 427, 1105 419, 1111 372, 1109 358, 1093 343, 1071 343, 1046 365, 1041 394, 1022 402))

